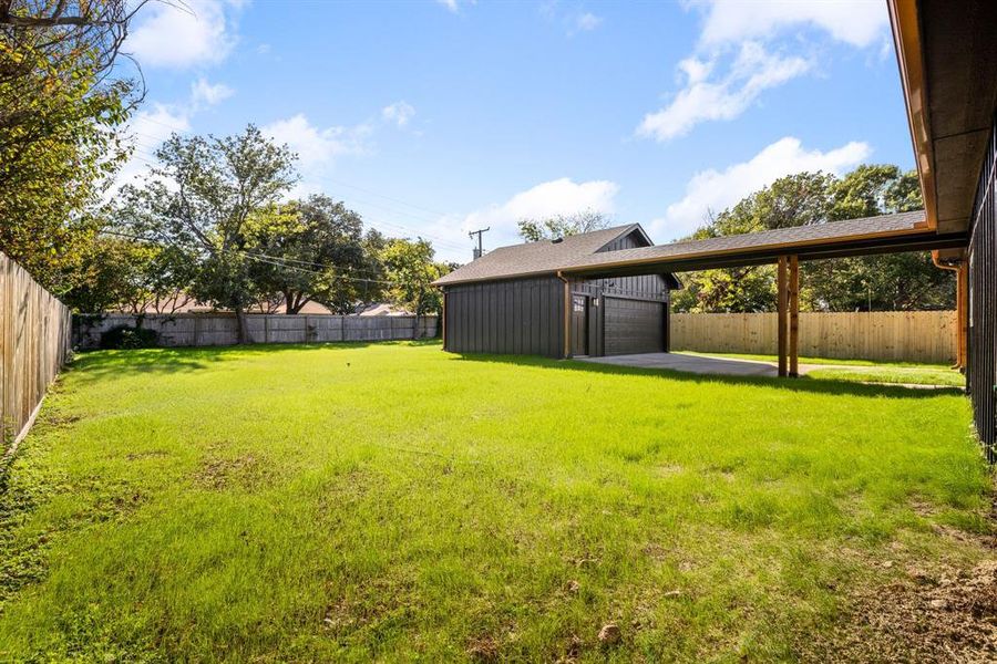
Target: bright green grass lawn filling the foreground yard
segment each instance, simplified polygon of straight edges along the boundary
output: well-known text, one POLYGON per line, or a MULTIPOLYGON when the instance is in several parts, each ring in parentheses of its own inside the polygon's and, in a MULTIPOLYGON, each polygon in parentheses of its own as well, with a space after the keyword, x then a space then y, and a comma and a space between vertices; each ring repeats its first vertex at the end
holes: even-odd
POLYGON ((0 476, 0 661, 904 649, 862 598, 991 556, 969 422, 952 391, 435 343, 89 353, 0 476))

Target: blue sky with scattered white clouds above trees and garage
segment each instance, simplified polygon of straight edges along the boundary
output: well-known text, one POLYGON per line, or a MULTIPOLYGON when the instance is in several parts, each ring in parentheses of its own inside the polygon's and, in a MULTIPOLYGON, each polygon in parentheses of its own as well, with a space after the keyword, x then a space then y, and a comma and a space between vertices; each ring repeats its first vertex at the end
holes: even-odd
POLYGON ((171 131, 255 123, 323 191, 441 258, 596 209, 682 237, 774 178, 913 167, 885 3, 153 4, 125 50, 141 176, 171 131))

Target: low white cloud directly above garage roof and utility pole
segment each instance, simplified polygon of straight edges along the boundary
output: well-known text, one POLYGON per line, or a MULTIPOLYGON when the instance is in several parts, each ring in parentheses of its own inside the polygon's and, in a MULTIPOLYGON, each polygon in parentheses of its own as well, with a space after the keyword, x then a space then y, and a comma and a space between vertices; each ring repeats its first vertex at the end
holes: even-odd
MULTIPOLYGON (((461 231, 491 227, 489 242, 492 247, 520 242, 516 227, 520 219, 571 215, 583 210, 611 214, 617 191, 619 187, 609 180, 575 183, 563 177, 531 187, 505 203, 471 212, 461 222, 461 231)), ((451 221, 451 232, 452 226, 451 221)))

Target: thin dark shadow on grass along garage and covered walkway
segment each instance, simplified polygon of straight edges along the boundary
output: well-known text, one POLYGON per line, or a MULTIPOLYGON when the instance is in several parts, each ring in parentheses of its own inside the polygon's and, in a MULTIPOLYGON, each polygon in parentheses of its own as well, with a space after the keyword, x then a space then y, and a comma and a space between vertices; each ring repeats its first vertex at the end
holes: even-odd
POLYGON ((453 359, 459 362, 483 362, 498 364, 515 364, 520 366, 547 367, 558 371, 580 371, 595 374, 650 376, 679 381, 682 383, 723 383, 728 385, 743 385, 756 387, 770 387, 790 392, 806 392, 816 394, 841 394, 853 396, 887 396, 894 398, 928 398, 942 394, 962 394, 958 387, 936 387, 931 390, 906 387, 904 385, 866 385, 862 383, 821 380, 811 377, 778 378, 770 376, 734 376, 723 374, 697 374, 674 369, 646 369, 638 366, 620 366, 617 364, 599 364, 596 362, 578 362, 574 360, 552 360, 535 355, 489 355, 476 353, 454 353, 453 359))

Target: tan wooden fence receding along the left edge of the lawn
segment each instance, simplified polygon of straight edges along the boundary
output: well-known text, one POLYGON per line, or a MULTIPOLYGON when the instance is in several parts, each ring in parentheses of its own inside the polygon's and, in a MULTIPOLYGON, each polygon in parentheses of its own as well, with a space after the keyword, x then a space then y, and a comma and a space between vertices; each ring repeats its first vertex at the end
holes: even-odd
POLYGON ((0 253, 0 455, 31 426, 70 334, 69 309, 0 253))

